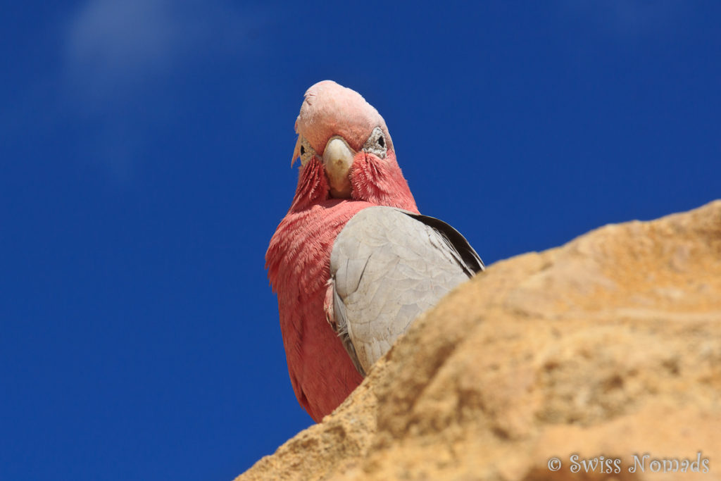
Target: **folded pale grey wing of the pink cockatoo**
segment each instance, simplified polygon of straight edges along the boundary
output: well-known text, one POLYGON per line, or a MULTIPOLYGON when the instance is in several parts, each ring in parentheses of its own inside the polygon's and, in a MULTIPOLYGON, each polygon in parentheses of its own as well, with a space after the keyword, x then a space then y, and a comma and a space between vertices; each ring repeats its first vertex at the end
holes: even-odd
POLYGON ((365 375, 419 314, 483 262, 438 219, 368 207, 340 231, 330 257, 334 325, 365 375))

